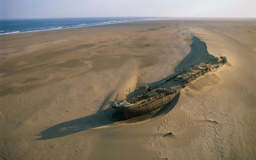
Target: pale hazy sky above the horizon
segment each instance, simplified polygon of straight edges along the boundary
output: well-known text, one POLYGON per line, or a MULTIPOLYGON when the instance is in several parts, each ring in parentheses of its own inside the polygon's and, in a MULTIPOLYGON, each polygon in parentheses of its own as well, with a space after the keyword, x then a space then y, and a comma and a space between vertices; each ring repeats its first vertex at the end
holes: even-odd
POLYGON ((0 18, 256 17, 256 0, 0 0, 0 18))

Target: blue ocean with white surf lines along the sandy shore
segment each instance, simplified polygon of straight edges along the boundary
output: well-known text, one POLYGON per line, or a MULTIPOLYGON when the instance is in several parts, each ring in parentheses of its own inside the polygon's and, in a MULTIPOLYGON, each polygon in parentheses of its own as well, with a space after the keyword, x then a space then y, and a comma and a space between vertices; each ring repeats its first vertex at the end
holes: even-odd
POLYGON ((37 32, 75 27, 91 27, 138 20, 153 20, 153 17, 111 18, 61 18, 61 19, 1 19, 0 35, 37 32))

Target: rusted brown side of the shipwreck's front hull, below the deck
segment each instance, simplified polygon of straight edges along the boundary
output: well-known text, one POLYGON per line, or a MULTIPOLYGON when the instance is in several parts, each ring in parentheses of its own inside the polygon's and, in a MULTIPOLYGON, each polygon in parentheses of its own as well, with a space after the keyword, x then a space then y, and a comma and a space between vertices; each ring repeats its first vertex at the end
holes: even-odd
POLYGON ((117 107, 115 105, 111 105, 116 111, 123 112, 125 117, 128 119, 130 117, 140 116, 143 114, 147 114, 151 111, 155 111, 166 106, 170 101, 172 101, 176 95, 179 93, 179 90, 176 90, 174 93, 164 95, 160 94, 157 96, 150 97, 146 100, 141 100, 136 104, 126 107, 117 107))

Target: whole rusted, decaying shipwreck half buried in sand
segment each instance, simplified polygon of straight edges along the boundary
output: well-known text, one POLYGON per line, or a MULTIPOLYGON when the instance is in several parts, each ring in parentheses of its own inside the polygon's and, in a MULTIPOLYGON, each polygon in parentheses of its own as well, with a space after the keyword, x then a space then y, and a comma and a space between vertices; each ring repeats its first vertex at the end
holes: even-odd
POLYGON ((144 91, 139 95, 126 100, 113 101, 111 102, 111 107, 116 111, 124 113, 127 119, 150 113, 166 106, 178 95, 180 89, 186 87, 191 81, 205 73, 216 70, 225 63, 227 63, 227 58, 221 55, 219 62, 216 64, 207 62, 184 66, 179 69, 178 73, 166 78, 165 82, 159 86, 144 86, 144 91), (175 84, 177 84, 178 81, 181 85, 164 87, 167 83, 171 84, 174 83, 174 81, 176 81, 175 84))

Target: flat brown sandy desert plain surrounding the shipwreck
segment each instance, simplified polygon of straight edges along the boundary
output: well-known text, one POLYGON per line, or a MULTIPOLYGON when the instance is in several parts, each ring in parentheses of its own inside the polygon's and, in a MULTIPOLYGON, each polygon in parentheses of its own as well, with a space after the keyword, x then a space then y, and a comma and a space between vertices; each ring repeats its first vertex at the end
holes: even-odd
POLYGON ((255 63, 256 19, 1 35, 0 159, 254 160, 255 63), (175 73, 193 52, 193 36, 228 64, 193 81, 156 115, 123 120, 109 108, 135 87, 175 73))

